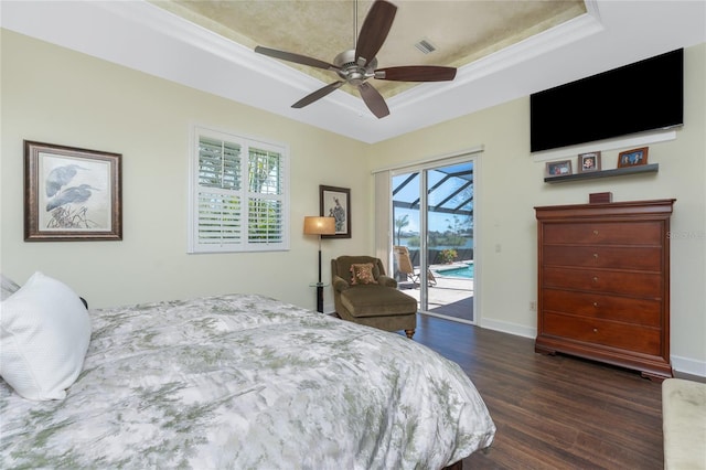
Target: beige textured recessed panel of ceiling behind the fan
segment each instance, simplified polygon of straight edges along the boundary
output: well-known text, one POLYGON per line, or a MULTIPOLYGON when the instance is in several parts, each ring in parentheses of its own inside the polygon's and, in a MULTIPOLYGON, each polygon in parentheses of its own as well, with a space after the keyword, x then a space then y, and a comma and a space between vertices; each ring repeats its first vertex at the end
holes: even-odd
MULTIPOLYGON (((372 1, 158 0, 152 3, 248 47, 264 45, 332 62, 339 53, 354 49, 372 1)), ((395 22, 377 54, 381 68, 459 67, 586 12, 581 0, 438 0, 394 4, 398 7, 395 22), (436 51, 425 55, 415 46, 420 40, 431 43, 436 51)), ((287 65, 324 83, 336 79, 332 72, 287 65)), ((385 97, 414 86, 384 81, 374 81, 374 85, 385 97)))

